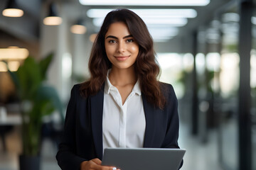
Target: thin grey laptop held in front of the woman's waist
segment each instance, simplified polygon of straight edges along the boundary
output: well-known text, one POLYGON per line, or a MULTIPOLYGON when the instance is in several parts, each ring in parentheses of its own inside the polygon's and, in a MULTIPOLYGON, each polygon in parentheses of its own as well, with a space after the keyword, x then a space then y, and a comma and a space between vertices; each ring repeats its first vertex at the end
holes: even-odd
POLYGON ((102 165, 121 170, 177 170, 186 149, 167 148, 106 148, 102 165))

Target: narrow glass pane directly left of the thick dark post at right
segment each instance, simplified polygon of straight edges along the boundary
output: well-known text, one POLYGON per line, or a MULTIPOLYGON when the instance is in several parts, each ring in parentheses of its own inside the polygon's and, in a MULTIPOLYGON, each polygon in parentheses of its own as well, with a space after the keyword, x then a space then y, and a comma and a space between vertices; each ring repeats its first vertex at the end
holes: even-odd
POLYGON ((233 8, 220 17, 220 159, 224 169, 238 169, 238 89, 240 57, 238 35, 240 17, 233 8))

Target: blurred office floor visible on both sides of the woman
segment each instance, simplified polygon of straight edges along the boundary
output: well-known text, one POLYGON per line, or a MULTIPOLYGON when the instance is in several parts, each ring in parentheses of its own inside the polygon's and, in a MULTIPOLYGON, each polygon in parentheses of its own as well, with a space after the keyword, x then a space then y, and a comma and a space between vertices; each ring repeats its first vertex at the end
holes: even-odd
MULTIPOLYGON (((191 136, 189 128, 181 123, 179 145, 187 149, 181 170, 221 170, 218 165, 216 132, 210 132, 209 142, 203 144, 198 137, 191 136)), ((18 170, 19 145, 18 130, 6 137, 7 152, 0 144, 0 170, 18 170)), ((41 170, 60 170, 55 160, 56 148, 50 140, 43 141, 41 170)))

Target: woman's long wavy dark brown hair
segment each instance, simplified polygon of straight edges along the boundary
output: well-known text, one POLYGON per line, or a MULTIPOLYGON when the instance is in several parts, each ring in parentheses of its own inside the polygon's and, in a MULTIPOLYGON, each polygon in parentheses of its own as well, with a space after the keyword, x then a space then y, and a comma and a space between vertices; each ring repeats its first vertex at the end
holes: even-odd
POLYGON ((112 23, 123 22, 127 25, 129 32, 139 45, 139 54, 134 63, 134 69, 139 79, 142 94, 146 100, 155 107, 164 108, 166 98, 161 91, 159 76, 159 65, 155 59, 153 40, 146 28, 142 18, 128 9, 117 9, 111 11, 105 17, 100 28, 100 32, 92 45, 92 52, 89 60, 89 70, 91 77, 82 83, 80 92, 82 96, 90 96, 100 91, 101 86, 107 78, 107 70, 112 67, 105 51, 105 35, 112 23))

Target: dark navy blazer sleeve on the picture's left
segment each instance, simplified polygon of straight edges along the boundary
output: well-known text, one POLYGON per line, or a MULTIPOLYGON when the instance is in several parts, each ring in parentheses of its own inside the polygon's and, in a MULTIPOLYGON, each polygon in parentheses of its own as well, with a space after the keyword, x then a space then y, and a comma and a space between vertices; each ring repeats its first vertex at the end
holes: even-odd
POLYGON ((75 154, 75 116, 76 116, 76 101, 79 95, 79 86, 73 86, 68 102, 68 108, 65 115, 65 125, 63 139, 58 146, 56 159, 58 165, 63 170, 80 169, 80 164, 86 159, 78 157, 75 154))

